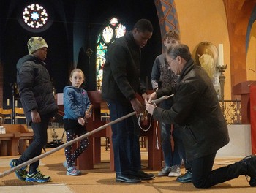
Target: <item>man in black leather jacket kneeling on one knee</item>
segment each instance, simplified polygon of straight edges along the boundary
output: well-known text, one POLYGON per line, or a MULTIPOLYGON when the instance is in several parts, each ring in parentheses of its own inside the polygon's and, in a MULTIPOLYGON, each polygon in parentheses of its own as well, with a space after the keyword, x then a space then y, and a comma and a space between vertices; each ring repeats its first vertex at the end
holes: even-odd
POLYGON ((187 45, 173 45, 166 57, 180 80, 174 89, 163 88, 151 94, 146 110, 159 121, 182 125, 179 129, 186 157, 192 165, 194 186, 209 188, 239 175, 249 175, 250 186, 256 186, 255 155, 212 170, 217 151, 229 142, 229 136, 211 78, 202 67, 195 65, 187 45), (169 110, 151 104, 152 99, 173 93, 174 102, 169 110))

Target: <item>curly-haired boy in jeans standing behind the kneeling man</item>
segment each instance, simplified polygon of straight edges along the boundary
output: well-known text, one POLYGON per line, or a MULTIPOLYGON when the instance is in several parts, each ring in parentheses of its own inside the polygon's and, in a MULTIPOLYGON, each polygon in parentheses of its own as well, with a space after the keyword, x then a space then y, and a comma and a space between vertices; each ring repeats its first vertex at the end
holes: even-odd
MULTIPOLYGON (((164 45, 168 49, 171 45, 175 45, 179 42, 180 37, 176 31, 167 31, 164 37, 164 45)), ((159 88, 174 87, 178 83, 178 75, 170 69, 166 61, 166 54, 162 53, 157 56, 154 61, 151 72, 151 83, 155 91, 159 88)), ((173 105, 173 98, 166 99, 161 102, 160 107, 163 109, 170 109, 173 105)), ((173 135, 171 132, 171 124, 160 122, 161 125, 161 144, 162 152, 164 154, 165 167, 158 173, 159 176, 178 177, 181 175, 180 165, 181 156, 178 152, 178 144, 181 144, 181 137, 173 135), (174 147, 171 145, 171 136, 173 136, 174 147), (178 143, 179 142, 181 143, 178 143)), ((177 126, 177 125, 176 125, 177 126)), ((178 132, 176 132, 178 134, 178 132)), ((182 144, 181 144, 182 145, 182 144)))

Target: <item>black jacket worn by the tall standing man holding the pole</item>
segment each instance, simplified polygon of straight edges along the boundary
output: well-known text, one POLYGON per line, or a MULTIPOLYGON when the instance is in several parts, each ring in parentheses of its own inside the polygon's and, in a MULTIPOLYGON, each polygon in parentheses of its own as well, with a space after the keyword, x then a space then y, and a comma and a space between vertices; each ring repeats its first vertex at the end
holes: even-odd
POLYGON ((116 39, 108 48, 103 68, 102 98, 127 103, 135 94, 146 93, 140 83, 140 47, 135 44, 132 31, 116 39))

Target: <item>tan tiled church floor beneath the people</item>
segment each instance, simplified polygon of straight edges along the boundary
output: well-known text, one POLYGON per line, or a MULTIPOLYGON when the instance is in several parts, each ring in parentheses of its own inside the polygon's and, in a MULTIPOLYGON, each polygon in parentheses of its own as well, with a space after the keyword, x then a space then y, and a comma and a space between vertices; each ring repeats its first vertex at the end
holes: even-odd
MULTIPOLYGON (((48 141, 52 140, 50 136, 49 129, 49 138, 48 141)), ((56 135, 60 138, 62 136, 63 129, 56 129, 56 135)), ((104 140, 104 139, 103 139, 104 140)), ((50 149, 47 149, 48 151, 50 149)), ((142 167, 143 170, 147 168, 148 152, 145 149, 141 151, 141 158, 143 160, 142 167)), ((9 170, 10 160, 18 156, 11 157, 0 157, 0 168, 4 167, 4 170, 9 170)), ((222 165, 231 164, 240 160, 240 157, 217 157, 217 160, 214 162, 214 167, 221 167, 222 165)), ((77 176, 70 177, 66 175, 62 162, 64 160, 64 150, 57 151, 54 155, 48 156, 48 158, 40 160, 40 167, 45 174, 48 174, 52 177, 52 182, 50 183, 32 183, 27 184, 18 181, 15 177, 15 174, 5 176, 0 178, 0 182, 3 184, 0 186, 0 192, 7 193, 113 193, 113 192, 154 192, 154 193, 170 193, 170 192, 195 192, 198 189, 195 189, 191 183, 177 183, 175 178, 160 178, 156 177, 154 181, 143 182, 140 184, 125 184, 125 183, 116 183, 115 173, 109 170, 109 151, 105 151, 105 147, 102 146, 102 164, 96 164, 93 170, 83 170, 83 175, 77 178, 77 176), (13 185, 12 185, 13 184, 13 185), (127 189, 129 186, 129 189, 127 189)), ((1 172, 4 172, 1 170, 1 172)), ((147 172, 147 170, 146 170, 147 172)), ((154 173, 157 176, 158 170, 148 170, 148 173, 154 173)), ((182 172, 185 173, 185 170, 182 169, 182 172)), ((250 189, 248 182, 244 176, 237 178, 234 181, 230 181, 224 184, 220 184, 219 189, 208 189, 203 190, 205 193, 213 192, 225 192, 225 193, 236 193, 235 189, 223 188, 223 186, 234 186, 238 192, 255 192, 255 189, 250 189), (249 188, 249 189, 248 189, 249 188)))

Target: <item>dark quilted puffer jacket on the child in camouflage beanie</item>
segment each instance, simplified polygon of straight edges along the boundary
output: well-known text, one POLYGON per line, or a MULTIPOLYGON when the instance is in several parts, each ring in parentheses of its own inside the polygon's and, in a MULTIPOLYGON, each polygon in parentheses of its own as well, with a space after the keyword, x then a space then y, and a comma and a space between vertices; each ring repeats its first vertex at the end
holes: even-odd
POLYGON ((53 96, 53 85, 45 63, 36 56, 26 55, 17 63, 17 83, 24 113, 31 123, 31 110, 40 115, 55 116, 58 105, 53 96))

